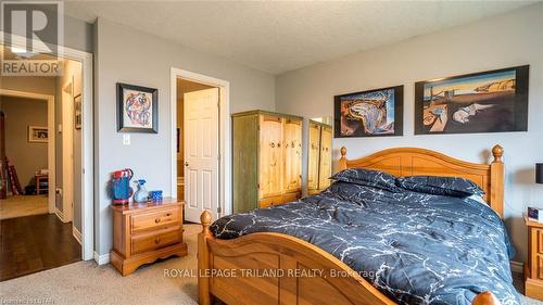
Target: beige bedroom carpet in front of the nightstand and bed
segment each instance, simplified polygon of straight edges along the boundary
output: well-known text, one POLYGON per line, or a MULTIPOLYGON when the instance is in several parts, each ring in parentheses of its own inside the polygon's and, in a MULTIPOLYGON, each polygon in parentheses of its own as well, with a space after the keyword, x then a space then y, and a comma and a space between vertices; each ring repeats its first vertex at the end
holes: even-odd
MULTIPOLYGON (((198 304, 195 277, 167 277, 175 270, 197 275, 199 225, 185 226, 189 255, 143 266, 123 278, 111 265, 79 262, 56 269, 0 282, 0 304, 198 304)), ((179 272, 178 272, 179 274, 179 272)), ((521 287, 521 280, 516 279, 521 287)), ((522 296, 522 305, 543 305, 522 296)))

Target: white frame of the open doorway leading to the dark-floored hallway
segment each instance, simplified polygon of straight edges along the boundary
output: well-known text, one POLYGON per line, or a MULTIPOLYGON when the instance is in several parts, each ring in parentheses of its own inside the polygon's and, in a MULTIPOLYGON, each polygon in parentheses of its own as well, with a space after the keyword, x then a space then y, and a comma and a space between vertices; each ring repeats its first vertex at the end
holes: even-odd
MULTIPOLYGON (((11 35, 11 46, 26 48, 26 41, 28 39, 18 35, 11 35)), ((33 46, 36 47, 38 52, 48 52, 49 50, 40 49, 39 42, 36 39, 33 40, 33 46)), ((5 43, 5 33, 0 31, 0 45, 7 46, 5 43)), ((84 260, 93 258, 94 251, 94 169, 93 169, 93 97, 92 97, 92 53, 85 51, 79 51, 76 49, 67 48, 64 46, 58 46, 60 58, 70 59, 74 61, 79 61, 81 63, 81 97, 83 97, 83 132, 81 132, 81 232, 75 232, 74 236, 79 233, 81 241, 81 258, 84 260)), ((54 135, 54 125, 53 134, 54 135)), ((53 192, 54 194, 54 192, 53 192)), ((53 201, 54 204, 54 201, 53 201)), ((75 227, 73 227, 75 228, 75 227)))

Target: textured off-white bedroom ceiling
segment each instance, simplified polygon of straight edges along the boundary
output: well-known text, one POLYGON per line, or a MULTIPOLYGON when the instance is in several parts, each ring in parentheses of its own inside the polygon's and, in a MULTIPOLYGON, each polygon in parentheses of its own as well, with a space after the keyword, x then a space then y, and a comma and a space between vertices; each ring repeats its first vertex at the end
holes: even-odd
POLYGON ((272 74, 501 14, 533 1, 68 1, 103 16, 272 74))

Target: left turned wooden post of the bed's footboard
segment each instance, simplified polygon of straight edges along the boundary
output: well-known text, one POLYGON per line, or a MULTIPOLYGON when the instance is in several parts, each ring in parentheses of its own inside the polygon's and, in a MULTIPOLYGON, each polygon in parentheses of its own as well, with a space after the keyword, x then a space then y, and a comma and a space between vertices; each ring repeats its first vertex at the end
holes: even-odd
POLYGON ((198 234, 198 303, 200 305, 210 305, 212 295, 210 293, 210 250, 207 246, 207 239, 211 238, 210 225, 211 213, 204 211, 200 215, 202 224, 202 232, 198 234))

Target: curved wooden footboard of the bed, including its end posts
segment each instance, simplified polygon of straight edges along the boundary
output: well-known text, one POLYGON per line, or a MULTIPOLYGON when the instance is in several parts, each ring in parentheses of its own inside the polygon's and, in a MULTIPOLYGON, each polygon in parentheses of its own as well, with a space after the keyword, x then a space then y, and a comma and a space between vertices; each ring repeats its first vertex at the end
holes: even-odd
MULTIPOLYGON (((395 304, 361 275, 324 250, 280 233, 215 239, 202 213, 198 239, 199 303, 395 304)), ((472 304, 498 305, 488 293, 472 304)))

